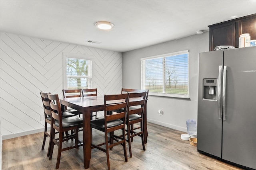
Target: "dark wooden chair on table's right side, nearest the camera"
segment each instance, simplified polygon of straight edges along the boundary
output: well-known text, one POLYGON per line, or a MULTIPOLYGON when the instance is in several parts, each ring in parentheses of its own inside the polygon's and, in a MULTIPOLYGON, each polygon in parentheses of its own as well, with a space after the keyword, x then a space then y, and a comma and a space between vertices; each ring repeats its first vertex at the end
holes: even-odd
POLYGON ((99 150, 102 150, 103 152, 106 152, 108 170, 110 170, 109 149, 112 150, 112 148, 116 145, 120 144, 123 146, 125 162, 128 162, 125 138, 125 121, 128 98, 129 94, 105 95, 104 119, 96 119, 91 121, 91 131, 92 128, 94 128, 105 133, 105 143, 101 143, 98 145, 92 143, 91 146, 92 149, 97 148, 99 150), (120 113, 108 114, 108 111, 112 111, 118 108, 122 108, 124 109, 124 111, 120 113), (114 135, 114 131, 119 129, 122 130, 122 135, 114 135), (101 147, 102 145, 105 145, 106 149, 101 147))

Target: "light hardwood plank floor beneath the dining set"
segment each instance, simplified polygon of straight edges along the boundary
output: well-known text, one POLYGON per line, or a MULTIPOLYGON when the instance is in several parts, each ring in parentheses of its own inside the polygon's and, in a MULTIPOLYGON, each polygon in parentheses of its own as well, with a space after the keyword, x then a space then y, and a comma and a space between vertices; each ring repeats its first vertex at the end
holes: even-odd
MULTIPOLYGON (((226 164, 197 152, 189 141, 180 139, 184 132, 176 131, 160 125, 148 123, 148 143, 146 151, 142 149, 141 140, 135 137, 132 142, 132 158, 124 161, 122 146, 110 151, 110 167, 112 170, 239 170, 240 168, 226 164)), ((82 137, 82 132, 80 132, 82 137)), ((93 141, 104 140, 104 134, 93 131, 93 141)), ((48 170, 55 169, 57 148, 54 147, 52 160, 46 156, 49 138, 44 150, 41 150, 43 133, 7 139, 2 142, 2 170, 48 170)), ((72 141, 65 142, 66 145, 72 141)), ((128 143, 127 143, 127 151, 128 143)), ((62 152, 59 170, 82 170, 83 152, 71 149, 62 152)), ((100 150, 92 150, 90 168, 88 170, 107 169, 106 154, 100 150)))

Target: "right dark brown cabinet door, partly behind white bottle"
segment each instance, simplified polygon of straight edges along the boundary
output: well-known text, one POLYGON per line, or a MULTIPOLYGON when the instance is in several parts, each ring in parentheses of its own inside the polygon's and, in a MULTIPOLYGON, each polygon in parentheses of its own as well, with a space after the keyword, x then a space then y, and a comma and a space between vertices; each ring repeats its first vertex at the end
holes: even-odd
POLYGON ((251 40, 256 39, 256 16, 238 21, 238 37, 244 33, 249 33, 251 40))

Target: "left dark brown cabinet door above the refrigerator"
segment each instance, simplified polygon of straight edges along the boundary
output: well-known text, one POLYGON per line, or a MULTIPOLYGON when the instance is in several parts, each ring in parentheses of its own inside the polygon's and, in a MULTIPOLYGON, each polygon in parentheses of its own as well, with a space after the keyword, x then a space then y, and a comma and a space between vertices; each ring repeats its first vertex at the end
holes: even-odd
POLYGON ((210 51, 219 45, 235 46, 235 25, 236 22, 222 23, 210 27, 210 51))

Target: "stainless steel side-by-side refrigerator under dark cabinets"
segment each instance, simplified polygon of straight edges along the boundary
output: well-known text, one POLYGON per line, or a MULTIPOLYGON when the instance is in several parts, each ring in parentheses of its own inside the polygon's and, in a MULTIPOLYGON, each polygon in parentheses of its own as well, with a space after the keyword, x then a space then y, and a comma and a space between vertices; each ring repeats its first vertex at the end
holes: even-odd
POLYGON ((256 47, 200 53, 199 152, 256 169, 256 47))

